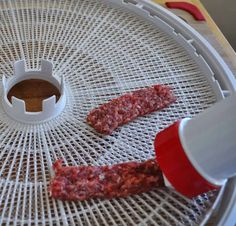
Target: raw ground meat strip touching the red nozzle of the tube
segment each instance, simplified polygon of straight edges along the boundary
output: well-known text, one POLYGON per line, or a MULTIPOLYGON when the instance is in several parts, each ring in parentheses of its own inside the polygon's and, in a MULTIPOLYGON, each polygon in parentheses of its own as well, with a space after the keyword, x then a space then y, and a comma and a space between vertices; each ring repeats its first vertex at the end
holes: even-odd
POLYGON ((62 166, 54 163, 55 177, 49 187, 55 199, 82 201, 90 198, 126 197, 164 186, 156 160, 113 166, 62 166))

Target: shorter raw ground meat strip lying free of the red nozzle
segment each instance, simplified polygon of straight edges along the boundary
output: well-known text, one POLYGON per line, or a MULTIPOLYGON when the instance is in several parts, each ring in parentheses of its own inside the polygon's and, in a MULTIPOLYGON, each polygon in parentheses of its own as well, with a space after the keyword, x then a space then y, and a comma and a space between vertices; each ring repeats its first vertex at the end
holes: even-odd
POLYGON ((88 114, 87 122, 97 132, 109 135, 118 126, 167 107, 175 100, 168 86, 154 85, 127 93, 99 106, 88 114))

